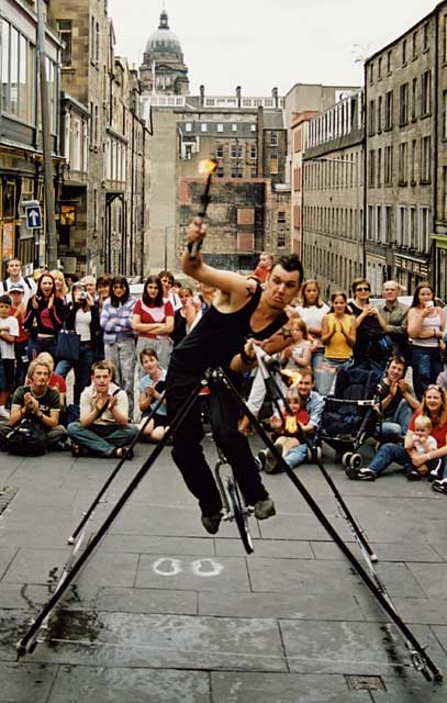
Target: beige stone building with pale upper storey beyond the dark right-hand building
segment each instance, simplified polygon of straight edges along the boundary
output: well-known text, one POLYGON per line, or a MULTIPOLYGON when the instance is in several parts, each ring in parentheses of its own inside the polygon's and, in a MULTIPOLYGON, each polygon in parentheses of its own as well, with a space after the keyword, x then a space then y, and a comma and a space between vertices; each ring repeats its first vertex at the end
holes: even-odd
POLYGON ((364 270, 364 93, 308 121, 302 178, 302 259, 324 297, 364 270))

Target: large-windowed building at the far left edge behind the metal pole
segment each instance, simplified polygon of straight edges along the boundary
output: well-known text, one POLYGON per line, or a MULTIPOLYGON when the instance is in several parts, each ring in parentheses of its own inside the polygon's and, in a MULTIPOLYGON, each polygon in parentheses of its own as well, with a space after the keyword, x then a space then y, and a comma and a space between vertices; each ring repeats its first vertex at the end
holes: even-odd
MULTIPOLYGON (((63 159, 59 155, 59 53, 57 33, 46 23, 46 67, 55 200, 63 159)), ((0 255, 22 260, 26 274, 46 263, 42 133, 37 113, 37 16, 34 2, 3 0, 0 16, 0 255), (41 205, 43 230, 26 227, 24 203, 41 205)), ((3 276, 2 276, 3 277, 3 276)))

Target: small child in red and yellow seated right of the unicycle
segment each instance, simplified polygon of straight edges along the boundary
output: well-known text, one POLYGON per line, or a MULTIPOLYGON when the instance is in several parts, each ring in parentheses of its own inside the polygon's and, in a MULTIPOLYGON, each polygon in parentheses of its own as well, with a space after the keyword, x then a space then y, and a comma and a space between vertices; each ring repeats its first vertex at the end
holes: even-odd
MULTIPOLYGON (((298 423, 301 425, 306 425, 310 421, 309 413, 305 409, 301 408, 300 395, 298 393, 297 388, 289 389, 286 400, 292 411, 292 414, 284 413, 283 422, 278 413, 275 413, 270 417, 270 425, 273 429, 272 438, 275 439, 275 447, 278 449, 279 454, 282 455, 282 458, 287 461, 287 464, 293 469, 295 466, 301 464, 298 461, 297 464, 293 461, 293 449, 300 446, 300 440, 298 438, 298 423), (289 455, 289 460, 287 457, 289 455)), ((297 457, 298 458, 298 457, 297 457)), ((258 459, 260 461, 261 468, 264 468, 267 473, 275 473, 277 471, 277 458, 273 456, 273 453, 270 449, 265 449, 259 451, 258 459)))

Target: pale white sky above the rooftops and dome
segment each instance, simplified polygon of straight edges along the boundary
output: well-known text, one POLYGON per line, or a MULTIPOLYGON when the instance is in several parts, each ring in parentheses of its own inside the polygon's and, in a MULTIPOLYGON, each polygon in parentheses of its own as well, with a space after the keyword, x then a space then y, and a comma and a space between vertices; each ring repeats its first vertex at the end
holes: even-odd
POLYGON ((297 82, 362 83, 361 59, 428 14, 436 0, 109 0, 115 53, 139 66, 165 5, 190 92, 286 94, 297 82))

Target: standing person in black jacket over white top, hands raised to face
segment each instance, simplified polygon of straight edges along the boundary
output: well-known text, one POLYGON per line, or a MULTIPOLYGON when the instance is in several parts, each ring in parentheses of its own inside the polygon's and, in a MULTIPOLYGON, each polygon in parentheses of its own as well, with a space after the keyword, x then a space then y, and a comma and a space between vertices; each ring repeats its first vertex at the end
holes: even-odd
POLYGON ((80 394, 90 382, 90 369, 98 358, 97 338, 100 330, 98 306, 80 281, 71 287, 71 301, 66 309, 65 326, 68 332, 76 332, 80 336, 79 358, 77 361, 58 360, 56 373, 67 378, 68 372, 74 369, 74 403, 79 405, 80 394))

